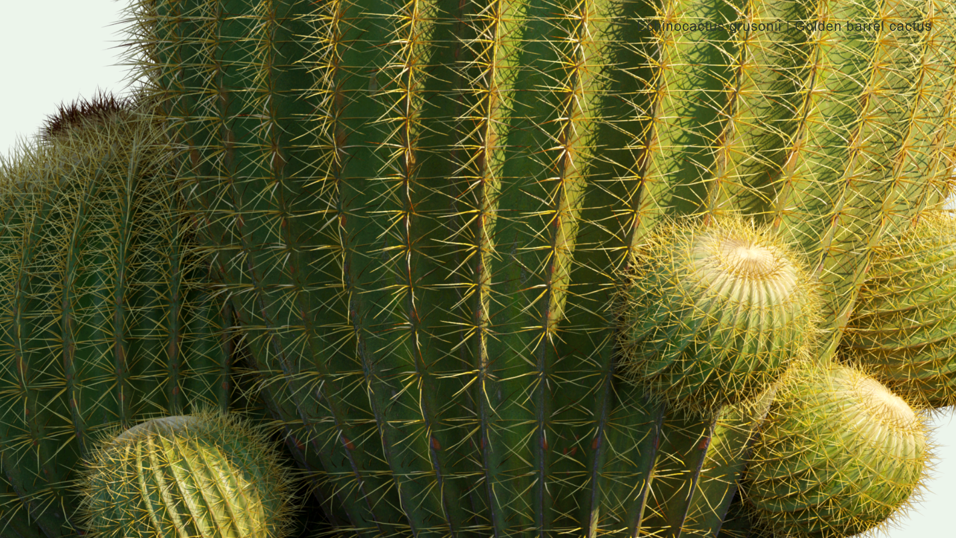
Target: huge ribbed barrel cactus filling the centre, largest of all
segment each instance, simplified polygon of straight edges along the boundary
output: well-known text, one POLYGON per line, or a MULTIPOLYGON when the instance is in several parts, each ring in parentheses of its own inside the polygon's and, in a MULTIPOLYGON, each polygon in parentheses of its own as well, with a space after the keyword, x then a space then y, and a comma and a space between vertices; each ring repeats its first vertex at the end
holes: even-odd
POLYGON ((135 14, 264 397, 359 537, 634 535, 655 462, 681 460, 659 447, 706 448, 711 426, 663 438, 618 363, 615 298, 649 234, 727 213, 770 226, 821 282, 826 359, 872 247, 953 166, 942 1, 135 14), (913 20, 931 30, 890 30, 913 20), (728 21, 749 26, 683 26, 728 21))

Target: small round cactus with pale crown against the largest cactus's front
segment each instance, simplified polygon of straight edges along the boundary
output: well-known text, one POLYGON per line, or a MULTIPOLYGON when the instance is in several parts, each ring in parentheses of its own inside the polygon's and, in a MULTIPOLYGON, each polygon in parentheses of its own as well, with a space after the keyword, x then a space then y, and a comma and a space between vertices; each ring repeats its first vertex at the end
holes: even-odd
POLYGON ((729 218, 667 227, 635 265, 625 368, 676 406, 747 399, 813 341, 815 284, 769 230, 729 218))

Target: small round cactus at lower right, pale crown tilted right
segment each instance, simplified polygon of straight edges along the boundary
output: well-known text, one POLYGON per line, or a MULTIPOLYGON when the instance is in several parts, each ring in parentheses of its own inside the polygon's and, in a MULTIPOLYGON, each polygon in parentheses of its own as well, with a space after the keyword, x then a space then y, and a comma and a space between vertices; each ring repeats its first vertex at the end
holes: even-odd
POLYGON ((928 426, 854 368, 788 373, 745 476, 744 503, 769 536, 842 538, 885 525, 930 459, 928 426))

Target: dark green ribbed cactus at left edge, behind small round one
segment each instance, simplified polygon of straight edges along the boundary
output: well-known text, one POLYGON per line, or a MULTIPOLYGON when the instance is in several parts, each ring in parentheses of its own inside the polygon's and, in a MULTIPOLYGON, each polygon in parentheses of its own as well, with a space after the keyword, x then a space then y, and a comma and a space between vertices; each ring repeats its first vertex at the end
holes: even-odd
POLYGON ((76 465, 103 429, 228 404, 225 305, 162 129, 130 109, 78 122, 0 169, 2 536, 76 533, 76 465))

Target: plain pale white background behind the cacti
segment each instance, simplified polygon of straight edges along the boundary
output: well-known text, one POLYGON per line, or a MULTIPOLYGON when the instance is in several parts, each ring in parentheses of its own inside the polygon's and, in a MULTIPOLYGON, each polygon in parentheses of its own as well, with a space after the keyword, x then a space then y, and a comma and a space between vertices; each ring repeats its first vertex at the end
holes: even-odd
MULTIPOLYGON (((116 66, 122 38, 120 11, 129 0, 33 0, 5 2, 0 16, 0 154, 32 138, 61 101, 92 97, 97 89, 122 93, 126 67, 116 66)), ((891 538, 952 536, 956 503, 956 424, 951 413, 935 420, 937 477, 908 517, 887 531, 891 538)))

